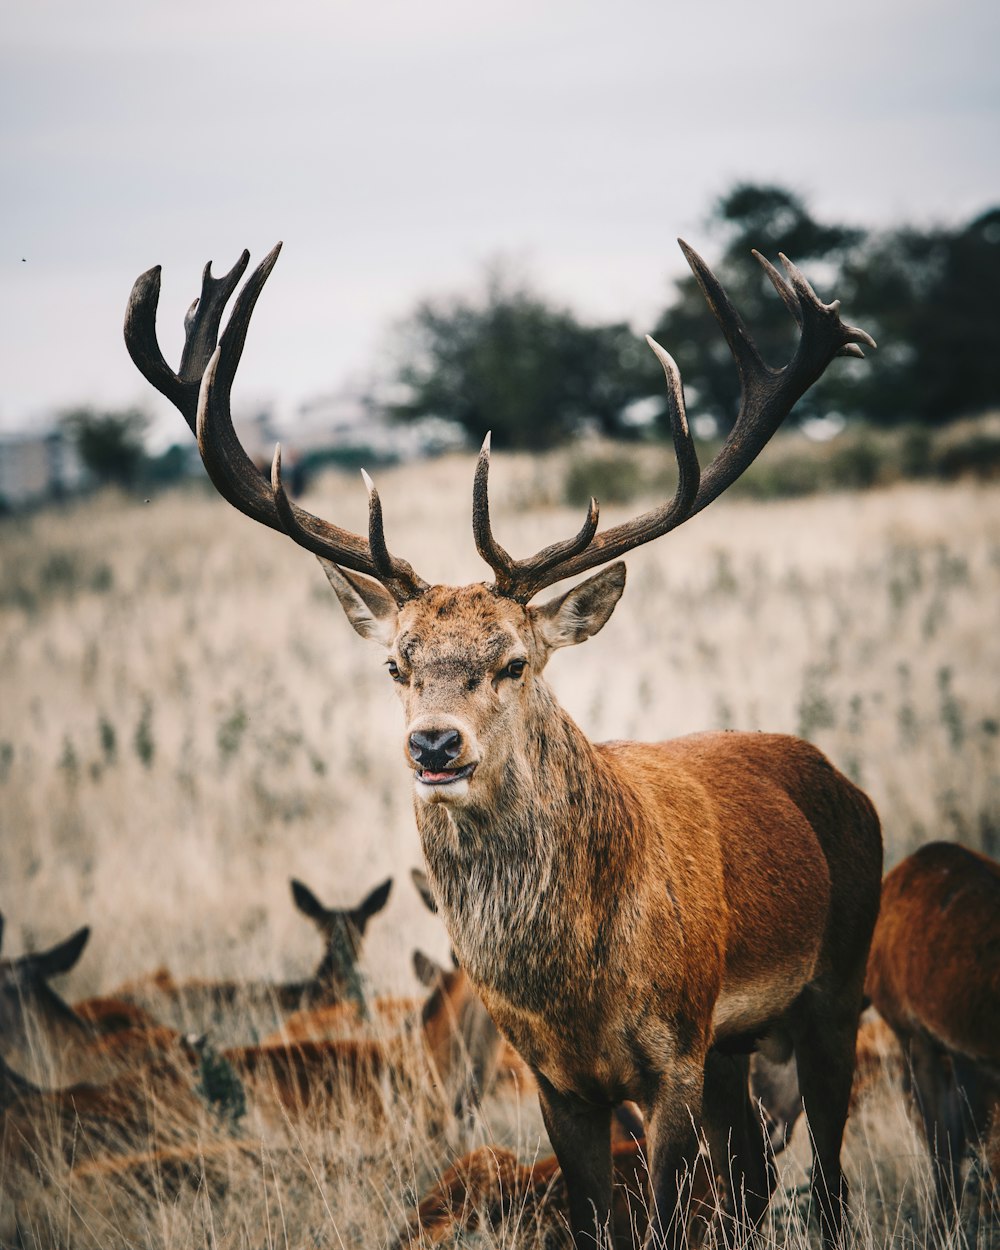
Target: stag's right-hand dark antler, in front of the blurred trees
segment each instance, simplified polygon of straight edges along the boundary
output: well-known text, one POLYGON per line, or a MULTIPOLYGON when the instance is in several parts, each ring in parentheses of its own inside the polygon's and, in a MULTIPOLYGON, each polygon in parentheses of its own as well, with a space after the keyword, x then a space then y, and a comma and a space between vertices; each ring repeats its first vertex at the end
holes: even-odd
POLYGON ((488 435, 479 454, 472 488, 472 532, 479 554, 496 574, 498 592, 509 599, 526 604, 545 586, 651 542, 708 508, 756 460, 795 402, 820 378, 834 356, 864 356, 859 344, 875 346, 871 335, 840 320, 840 300, 824 304, 786 256, 779 254, 788 275, 782 278, 769 260, 754 251, 800 331, 791 360, 781 369, 772 369, 761 359, 722 284, 698 252, 684 240, 679 242, 736 361, 740 409, 729 438, 701 474, 688 429, 680 370, 669 352, 648 335, 646 342, 666 376, 670 429, 678 460, 678 489, 672 500, 598 534, 598 501, 591 499, 584 526, 575 538, 554 542, 526 560, 514 560, 495 540, 490 526, 488 435))

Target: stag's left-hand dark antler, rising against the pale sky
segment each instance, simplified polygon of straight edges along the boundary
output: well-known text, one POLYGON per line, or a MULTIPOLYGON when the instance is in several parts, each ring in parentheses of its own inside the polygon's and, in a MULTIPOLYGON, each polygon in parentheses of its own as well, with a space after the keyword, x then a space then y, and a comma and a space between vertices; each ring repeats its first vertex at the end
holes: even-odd
POLYGON ((246 271, 250 252, 244 251, 222 278, 212 278, 209 261, 201 275, 201 296, 184 319, 184 351, 176 374, 164 360, 156 341, 160 266, 140 274, 125 311, 125 345, 142 376, 180 410, 194 431, 209 478, 224 499, 255 521, 288 534, 314 555, 378 579, 396 602, 402 604, 422 594, 428 582, 405 560, 390 555, 385 545, 381 502, 368 474, 364 475, 369 491, 369 536, 365 540, 289 500, 281 484, 280 446, 275 448, 269 485, 232 428, 232 380, 246 342, 250 316, 280 250, 279 242, 248 278, 221 339, 219 326, 222 312, 246 271))

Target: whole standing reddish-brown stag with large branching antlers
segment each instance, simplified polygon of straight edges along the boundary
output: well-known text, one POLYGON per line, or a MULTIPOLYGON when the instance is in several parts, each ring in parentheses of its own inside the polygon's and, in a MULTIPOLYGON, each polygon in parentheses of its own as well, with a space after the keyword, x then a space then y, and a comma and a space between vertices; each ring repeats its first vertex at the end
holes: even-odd
POLYGON ((879 901, 878 816, 812 746, 765 734, 592 744, 542 678, 554 650, 606 624, 625 586, 618 558, 706 508, 834 356, 874 346, 784 256, 786 276, 758 256, 799 325, 791 360, 766 365, 715 275, 681 248, 740 376, 730 436, 701 474, 680 374, 649 340, 668 382, 674 499, 600 534, 591 500, 579 534, 524 560, 492 532, 488 439, 472 532, 492 584, 429 585, 391 555, 368 479, 365 539, 289 500, 280 448, 268 482, 240 446, 230 390, 279 248, 240 290, 221 338, 249 254, 219 279, 206 266, 178 372, 156 342, 159 268, 136 280, 125 316, 134 362, 195 431, 220 494, 316 554, 354 629, 384 650, 430 882, 461 966, 539 1082, 580 1248, 595 1230, 606 1240, 611 1108, 624 1100, 646 1116, 652 1240, 681 1235, 678 1176, 699 1125, 716 1158, 734 1160, 738 1215, 762 1216, 771 1174, 746 1058, 759 1046, 795 1052, 816 1208, 826 1239, 838 1236, 840 1145, 879 901), (544 588, 609 561, 530 605, 544 588))

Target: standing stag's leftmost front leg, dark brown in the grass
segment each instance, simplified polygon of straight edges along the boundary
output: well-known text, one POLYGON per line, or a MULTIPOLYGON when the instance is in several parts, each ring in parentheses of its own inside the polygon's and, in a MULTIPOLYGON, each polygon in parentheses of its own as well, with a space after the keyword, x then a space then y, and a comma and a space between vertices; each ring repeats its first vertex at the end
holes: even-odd
POLYGON ((611 1108, 561 1094, 541 1072, 539 1102, 570 1205, 576 1250, 611 1248, 611 1108))

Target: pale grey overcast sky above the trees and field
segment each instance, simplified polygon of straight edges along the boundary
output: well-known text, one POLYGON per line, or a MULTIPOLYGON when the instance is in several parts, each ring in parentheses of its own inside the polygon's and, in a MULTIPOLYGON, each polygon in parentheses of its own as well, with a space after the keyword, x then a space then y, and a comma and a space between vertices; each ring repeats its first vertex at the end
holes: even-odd
POLYGON ((1000 200, 998 54, 996 0, 8 0, 0 428, 172 412, 121 339, 154 264, 176 364, 202 264, 284 240, 234 402, 289 414, 498 256, 646 329, 735 179, 958 222, 1000 200))

